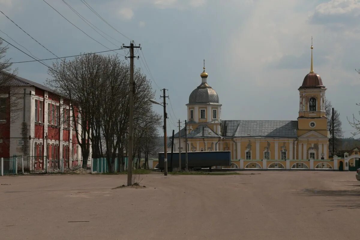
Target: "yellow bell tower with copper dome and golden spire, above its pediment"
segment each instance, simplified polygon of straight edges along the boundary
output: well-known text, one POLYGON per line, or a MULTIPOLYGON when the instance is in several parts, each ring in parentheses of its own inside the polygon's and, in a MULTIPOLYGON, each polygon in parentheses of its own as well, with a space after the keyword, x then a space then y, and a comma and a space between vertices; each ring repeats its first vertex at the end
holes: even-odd
POLYGON ((312 38, 311 38, 311 64, 308 73, 301 87, 299 87, 300 103, 298 117, 298 136, 309 131, 316 131, 323 136, 328 136, 327 117, 325 111, 326 87, 319 74, 314 73, 312 59, 312 38))

